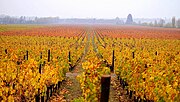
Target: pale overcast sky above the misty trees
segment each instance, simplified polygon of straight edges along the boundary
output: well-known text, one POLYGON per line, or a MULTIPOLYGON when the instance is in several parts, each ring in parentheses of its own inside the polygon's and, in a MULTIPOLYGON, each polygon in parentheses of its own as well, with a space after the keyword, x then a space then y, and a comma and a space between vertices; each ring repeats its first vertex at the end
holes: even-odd
POLYGON ((180 0, 0 0, 0 14, 60 18, 180 18, 180 0))

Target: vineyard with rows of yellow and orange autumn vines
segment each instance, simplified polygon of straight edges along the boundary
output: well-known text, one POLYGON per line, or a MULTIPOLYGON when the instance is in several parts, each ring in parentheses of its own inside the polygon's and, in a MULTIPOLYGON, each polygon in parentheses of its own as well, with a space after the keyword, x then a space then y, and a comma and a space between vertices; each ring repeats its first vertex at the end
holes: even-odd
MULTIPOLYGON (((103 75, 115 77, 122 90, 113 92, 124 91, 128 101, 180 101, 179 29, 13 27, 0 26, 2 102, 52 101, 74 70, 81 88, 81 97, 74 102, 100 102, 103 75)), ((116 100, 122 102, 119 97, 116 100)))

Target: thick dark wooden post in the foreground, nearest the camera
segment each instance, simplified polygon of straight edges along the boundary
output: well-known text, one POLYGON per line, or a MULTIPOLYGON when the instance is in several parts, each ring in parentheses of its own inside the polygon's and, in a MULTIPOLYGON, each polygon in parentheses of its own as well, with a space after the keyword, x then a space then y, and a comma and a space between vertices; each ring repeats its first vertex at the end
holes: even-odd
POLYGON ((108 102, 109 100, 109 90, 110 90, 110 75, 103 75, 101 77, 101 98, 100 102, 108 102))

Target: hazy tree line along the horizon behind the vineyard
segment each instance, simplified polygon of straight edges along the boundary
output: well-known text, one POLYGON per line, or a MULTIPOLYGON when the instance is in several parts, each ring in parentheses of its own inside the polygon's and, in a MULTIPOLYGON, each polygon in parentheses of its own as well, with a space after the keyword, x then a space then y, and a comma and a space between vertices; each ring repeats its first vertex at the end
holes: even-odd
POLYGON ((59 17, 11 17, 1 16, 0 24, 63 24, 63 23, 93 23, 93 24, 116 24, 116 25, 142 25, 152 27, 167 27, 167 28, 180 28, 180 19, 175 17, 171 18, 171 22, 166 22, 164 19, 154 20, 153 22, 134 22, 131 14, 128 15, 126 22, 116 17, 115 19, 60 19, 59 17))

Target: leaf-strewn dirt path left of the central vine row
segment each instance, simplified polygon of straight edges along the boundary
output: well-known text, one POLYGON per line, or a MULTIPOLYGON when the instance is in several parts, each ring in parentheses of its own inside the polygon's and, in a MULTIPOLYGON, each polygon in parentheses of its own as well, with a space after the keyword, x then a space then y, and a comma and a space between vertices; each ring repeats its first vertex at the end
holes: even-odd
POLYGON ((85 45, 82 58, 79 60, 78 64, 74 67, 74 69, 71 72, 66 73, 66 79, 61 85, 61 91, 59 92, 59 95, 52 98, 51 102, 71 102, 72 100, 82 96, 82 90, 80 88, 79 81, 76 77, 83 72, 82 63, 84 62, 84 57, 88 51, 90 41, 90 36, 88 32, 86 34, 86 37, 87 42, 85 45))

